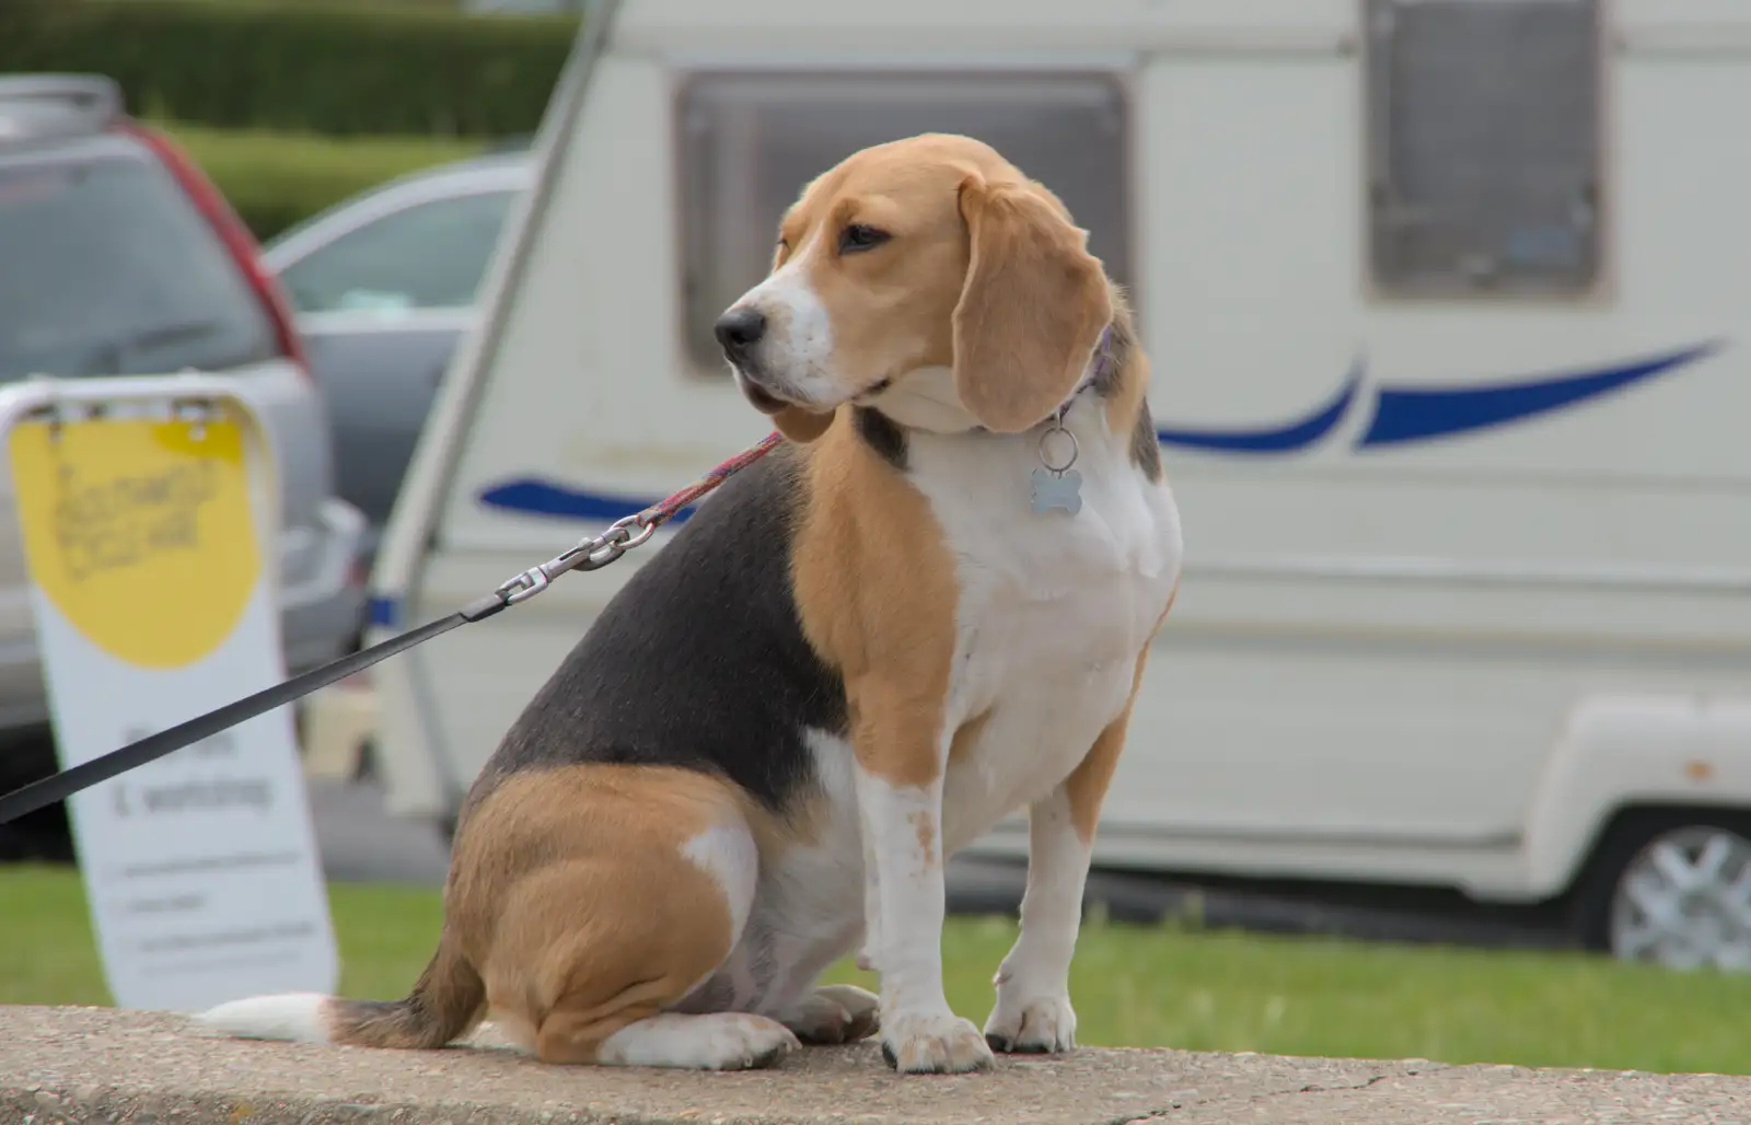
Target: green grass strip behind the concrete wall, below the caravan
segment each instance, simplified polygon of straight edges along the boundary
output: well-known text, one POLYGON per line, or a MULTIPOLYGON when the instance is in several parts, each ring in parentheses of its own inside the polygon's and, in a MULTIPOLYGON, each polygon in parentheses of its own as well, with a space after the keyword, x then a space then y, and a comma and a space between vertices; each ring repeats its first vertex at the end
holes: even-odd
MULTIPOLYGON (((438 936, 438 895, 334 883, 341 992, 399 997, 438 936)), ((982 1023, 1014 923, 953 918, 949 1001, 982 1023)), ((846 964, 833 980, 874 987, 846 964)), ((1606 959, 1089 923, 1079 1039, 1107 1046, 1751 1072, 1751 976, 1606 959)), ((107 1004, 77 876, 0 867, 0 1002, 107 1004)))

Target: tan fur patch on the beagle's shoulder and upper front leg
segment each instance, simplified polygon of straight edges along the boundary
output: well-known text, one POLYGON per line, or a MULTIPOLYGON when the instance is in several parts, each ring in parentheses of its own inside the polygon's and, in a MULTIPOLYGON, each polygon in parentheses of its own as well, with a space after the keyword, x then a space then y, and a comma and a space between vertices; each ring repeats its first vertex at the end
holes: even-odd
POLYGON ((940 773, 954 559, 928 501, 839 422, 816 445, 791 557, 802 629, 846 682, 851 745, 893 785, 940 773))

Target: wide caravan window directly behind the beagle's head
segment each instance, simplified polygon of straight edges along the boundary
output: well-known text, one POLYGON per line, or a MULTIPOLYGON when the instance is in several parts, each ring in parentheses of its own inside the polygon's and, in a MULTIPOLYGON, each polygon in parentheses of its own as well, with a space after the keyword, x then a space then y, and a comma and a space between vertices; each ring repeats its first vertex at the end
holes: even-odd
POLYGON ((1051 188, 1089 251, 1131 284, 1128 112, 1110 74, 693 74, 678 107, 688 352, 725 371, 718 315, 772 265, 802 188, 851 152, 914 133, 989 142, 1051 188))

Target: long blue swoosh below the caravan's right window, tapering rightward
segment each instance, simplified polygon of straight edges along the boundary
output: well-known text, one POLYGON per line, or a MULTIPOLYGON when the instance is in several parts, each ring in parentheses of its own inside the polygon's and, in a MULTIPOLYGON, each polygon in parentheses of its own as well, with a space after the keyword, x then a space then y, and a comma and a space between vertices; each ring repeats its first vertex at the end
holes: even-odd
POLYGON ((1718 347, 1719 342, 1698 343, 1649 359, 1529 382, 1483 387, 1382 387, 1375 396, 1375 419, 1357 442, 1357 449, 1427 442, 1537 417, 1621 391, 1700 359, 1718 347))

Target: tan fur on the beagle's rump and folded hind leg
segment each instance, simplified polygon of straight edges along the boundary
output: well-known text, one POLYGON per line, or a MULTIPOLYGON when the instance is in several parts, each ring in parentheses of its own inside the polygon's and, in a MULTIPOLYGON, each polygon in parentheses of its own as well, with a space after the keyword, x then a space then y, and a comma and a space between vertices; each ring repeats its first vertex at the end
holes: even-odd
MULTIPOLYGON (((469 1023, 490 1009, 541 1060, 594 1062, 604 1039, 728 957, 728 902, 681 846, 742 818, 737 794, 688 769, 592 764, 506 778, 457 834, 440 952, 413 995, 480 995, 469 1023)), ((396 1046, 362 1029, 340 1041, 396 1046)))

